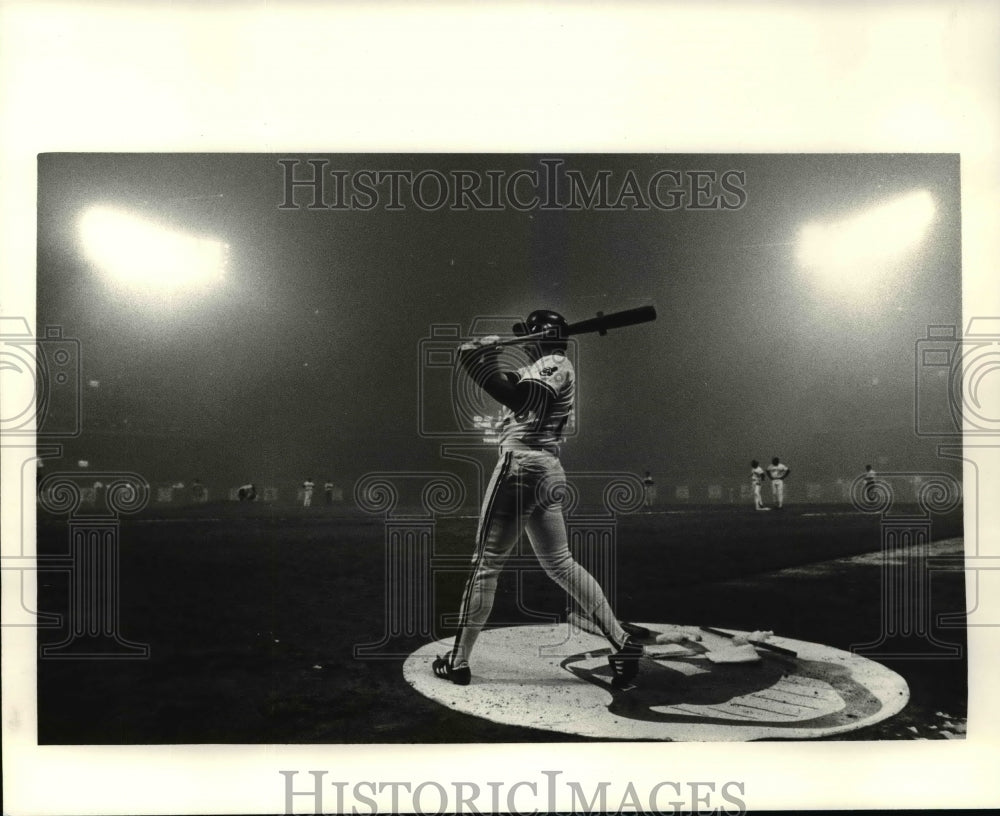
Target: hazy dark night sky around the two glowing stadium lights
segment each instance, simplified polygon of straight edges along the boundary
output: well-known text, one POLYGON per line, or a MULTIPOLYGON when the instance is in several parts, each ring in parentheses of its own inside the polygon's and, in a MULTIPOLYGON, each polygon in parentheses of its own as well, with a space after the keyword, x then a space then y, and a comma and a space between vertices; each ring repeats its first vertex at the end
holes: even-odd
POLYGON ((442 440, 420 427, 446 419, 447 382, 423 365, 432 327, 653 303, 655 323, 578 338, 568 471, 740 482, 751 458, 780 456, 803 482, 853 479, 873 460, 955 472, 913 417, 917 340, 961 322, 958 179, 953 155, 43 155, 37 323, 80 340, 84 384, 83 433, 47 467, 87 459, 220 488, 307 476, 349 488, 370 471, 446 469, 442 440), (688 195, 669 210, 640 209, 639 196, 620 210, 459 211, 391 209, 383 187, 362 210, 329 206, 327 177, 328 206, 309 208, 298 189, 282 208, 279 162, 297 160, 301 177, 321 159, 327 173, 479 180, 544 175, 540 162, 558 159, 588 183, 610 171, 612 199, 630 170, 642 185, 661 170, 716 182, 737 171, 744 195, 720 198, 714 183, 699 200, 725 206, 694 209, 688 195), (934 220, 871 294, 823 288, 797 259, 804 224, 917 190, 933 196, 934 220), (176 297, 116 287, 81 246, 78 219, 94 204, 228 243, 224 280, 176 297))

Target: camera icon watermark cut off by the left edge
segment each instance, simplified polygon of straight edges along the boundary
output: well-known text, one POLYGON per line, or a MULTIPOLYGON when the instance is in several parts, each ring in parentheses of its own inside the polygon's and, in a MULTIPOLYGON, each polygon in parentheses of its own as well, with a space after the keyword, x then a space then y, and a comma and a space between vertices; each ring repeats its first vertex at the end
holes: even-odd
POLYGON ((80 341, 23 317, 0 317, 0 436, 75 437, 81 431, 80 341))

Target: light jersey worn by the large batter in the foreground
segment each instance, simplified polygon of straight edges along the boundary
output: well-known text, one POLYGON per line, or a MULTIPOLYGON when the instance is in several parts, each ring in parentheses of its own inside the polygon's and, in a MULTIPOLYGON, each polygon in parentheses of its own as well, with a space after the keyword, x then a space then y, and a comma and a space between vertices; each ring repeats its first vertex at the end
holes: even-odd
POLYGON ((576 398, 576 373, 565 354, 540 357, 517 371, 518 385, 538 383, 549 393, 544 412, 542 406, 527 405, 515 414, 504 408, 500 414, 499 441, 507 445, 527 445, 532 448, 558 450, 563 431, 573 414, 576 398))

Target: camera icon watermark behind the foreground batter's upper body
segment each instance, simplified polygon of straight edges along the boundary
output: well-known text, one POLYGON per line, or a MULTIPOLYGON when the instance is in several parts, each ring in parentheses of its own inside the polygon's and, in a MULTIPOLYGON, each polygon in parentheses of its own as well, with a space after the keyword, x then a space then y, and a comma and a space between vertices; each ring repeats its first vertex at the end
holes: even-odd
MULTIPOLYGON (((431 326, 419 342, 417 432, 423 438, 477 441, 495 444, 500 416, 496 401, 458 363, 459 346, 478 338, 509 336, 511 327, 521 318, 481 316, 473 319, 468 332, 455 323, 431 326)), ((577 344, 566 341, 566 356, 576 369, 577 344)), ((502 346, 498 360, 504 371, 516 372, 532 362, 521 344, 502 346)), ((563 426, 561 435, 570 438, 577 432, 579 417, 573 416, 563 426)))

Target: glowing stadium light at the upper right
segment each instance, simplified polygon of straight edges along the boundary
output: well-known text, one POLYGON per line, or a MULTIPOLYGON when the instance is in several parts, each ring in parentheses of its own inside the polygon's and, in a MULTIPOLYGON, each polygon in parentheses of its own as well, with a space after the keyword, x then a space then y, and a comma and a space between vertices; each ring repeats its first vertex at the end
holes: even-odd
POLYGON ((934 198, 920 190, 843 221, 806 224, 799 262, 823 282, 867 289, 921 241, 934 212, 934 198))

